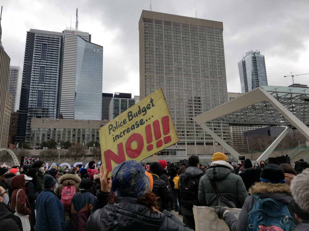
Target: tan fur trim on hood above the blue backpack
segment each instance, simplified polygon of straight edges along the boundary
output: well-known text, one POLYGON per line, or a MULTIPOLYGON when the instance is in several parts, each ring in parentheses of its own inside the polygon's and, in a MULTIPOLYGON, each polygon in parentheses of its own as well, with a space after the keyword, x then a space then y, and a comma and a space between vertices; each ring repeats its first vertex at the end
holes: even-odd
POLYGON ((255 193, 286 193, 291 195, 290 185, 288 184, 272 184, 270 182, 256 182, 249 189, 249 194, 255 193))

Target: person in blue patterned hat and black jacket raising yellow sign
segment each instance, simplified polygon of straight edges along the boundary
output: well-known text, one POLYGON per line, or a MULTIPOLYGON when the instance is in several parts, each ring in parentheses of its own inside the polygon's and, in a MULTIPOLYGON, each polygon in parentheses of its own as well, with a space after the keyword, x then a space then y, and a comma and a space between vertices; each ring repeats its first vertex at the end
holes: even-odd
POLYGON ((93 213, 86 223, 87 231, 191 230, 171 212, 159 213, 141 162, 123 161, 112 170, 112 180, 106 176, 107 170, 101 166, 101 189, 97 191, 93 213))

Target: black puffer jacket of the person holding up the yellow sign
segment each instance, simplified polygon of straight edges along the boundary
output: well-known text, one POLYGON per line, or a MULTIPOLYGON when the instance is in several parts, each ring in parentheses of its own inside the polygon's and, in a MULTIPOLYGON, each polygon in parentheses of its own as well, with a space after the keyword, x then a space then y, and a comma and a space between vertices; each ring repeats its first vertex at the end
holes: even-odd
POLYGON ((94 213, 86 223, 87 231, 192 231, 171 212, 164 210, 163 213, 150 213, 146 205, 133 197, 118 197, 115 204, 109 205, 107 204, 109 196, 109 193, 98 190, 94 213))

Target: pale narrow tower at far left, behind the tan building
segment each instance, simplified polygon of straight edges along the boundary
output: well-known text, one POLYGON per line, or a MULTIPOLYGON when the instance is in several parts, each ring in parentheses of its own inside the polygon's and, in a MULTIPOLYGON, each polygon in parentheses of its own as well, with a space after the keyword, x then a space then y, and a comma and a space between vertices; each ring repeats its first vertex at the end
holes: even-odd
POLYGON ((20 90, 21 90, 22 70, 17 66, 10 66, 9 79, 7 83, 7 91, 12 95, 11 111, 19 109, 20 90))

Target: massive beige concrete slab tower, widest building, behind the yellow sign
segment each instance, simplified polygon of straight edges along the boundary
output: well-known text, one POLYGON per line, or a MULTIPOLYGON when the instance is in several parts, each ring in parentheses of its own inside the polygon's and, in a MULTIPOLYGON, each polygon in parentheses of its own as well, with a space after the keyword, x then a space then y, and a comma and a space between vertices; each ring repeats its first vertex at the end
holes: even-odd
MULTIPOLYGON (((188 153, 217 144, 192 118, 227 101, 222 32, 222 22, 148 10, 139 20, 140 98, 162 88, 188 153)), ((227 124, 207 126, 229 139, 227 124)))

